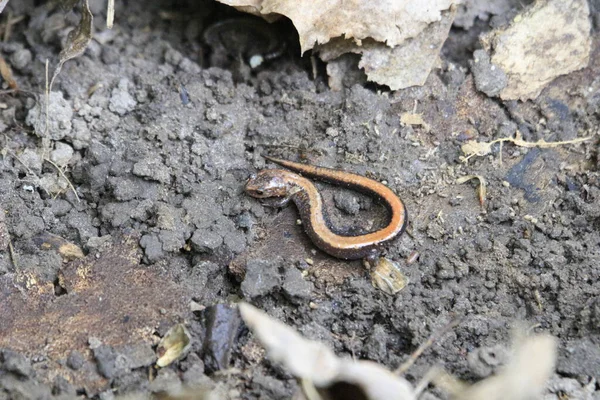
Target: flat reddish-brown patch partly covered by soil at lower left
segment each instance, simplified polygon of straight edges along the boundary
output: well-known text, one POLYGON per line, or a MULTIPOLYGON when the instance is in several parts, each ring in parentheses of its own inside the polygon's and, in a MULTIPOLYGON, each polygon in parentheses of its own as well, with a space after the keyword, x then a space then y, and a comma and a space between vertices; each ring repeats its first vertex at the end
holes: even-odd
POLYGON ((101 253, 64 264, 56 283, 29 272, 1 275, 0 347, 43 357, 34 364, 38 378, 60 372, 88 394, 103 390, 118 371, 153 363, 154 352, 145 349, 154 343, 155 326, 178 318, 186 303, 167 276, 139 265, 138 240, 123 236, 101 253), (74 354, 83 359, 74 361, 74 354))

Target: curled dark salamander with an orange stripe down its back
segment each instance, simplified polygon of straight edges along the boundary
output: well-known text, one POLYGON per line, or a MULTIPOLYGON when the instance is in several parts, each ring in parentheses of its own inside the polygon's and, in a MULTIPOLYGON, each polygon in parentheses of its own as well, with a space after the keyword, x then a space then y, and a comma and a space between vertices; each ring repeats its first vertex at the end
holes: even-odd
POLYGON ((262 170, 248 181, 246 192, 259 199, 277 198, 280 206, 293 201, 298 208, 306 233, 313 243, 324 252, 346 260, 364 258, 373 261, 379 255, 382 245, 404 232, 407 221, 404 203, 382 183, 345 171, 272 157, 265 158, 295 172, 283 169, 262 170), (389 223, 375 232, 364 235, 336 234, 327 225, 323 200, 319 191, 307 177, 377 198, 385 205, 390 214, 389 223))

